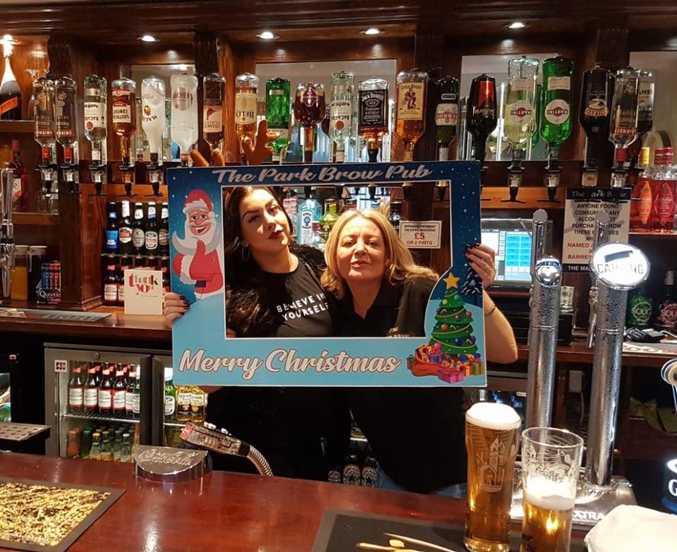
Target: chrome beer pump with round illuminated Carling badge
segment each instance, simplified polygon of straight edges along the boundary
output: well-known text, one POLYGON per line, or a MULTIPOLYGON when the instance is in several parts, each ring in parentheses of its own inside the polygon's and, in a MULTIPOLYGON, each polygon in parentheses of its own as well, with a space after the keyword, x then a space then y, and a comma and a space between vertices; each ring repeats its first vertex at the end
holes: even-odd
POLYGON ((649 261, 638 248, 603 244, 592 252, 590 270, 597 280, 590 420, 585 472, 579 482, 573 523, 590 527, 619 504, 635 504, 630 483, 611 474, 621 388, 621 354, 628 292, 649 275, 649 261))

